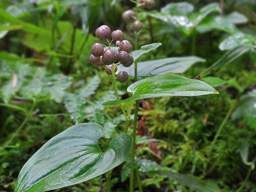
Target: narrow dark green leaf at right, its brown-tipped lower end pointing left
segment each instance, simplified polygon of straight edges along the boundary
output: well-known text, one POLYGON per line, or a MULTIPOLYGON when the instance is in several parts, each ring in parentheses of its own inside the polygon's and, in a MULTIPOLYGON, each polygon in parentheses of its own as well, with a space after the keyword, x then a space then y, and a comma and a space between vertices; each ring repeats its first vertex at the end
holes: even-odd
POLYGON ((208 75, 211 72, 216 71, 220 67, 232 62, 233 60, 235 60, 236 58, 238 58, 239 56, 243 55, 244 53, 248 52, 251 49, 253 48, 248 46, 239 46, 234 48, 229 53, 227 53, 222 58, 220 58, 220 60, 214 63, 211 67, 206 69, 204 72, 201 72, 197 77, 195 77, 195 79, 199 79, 205 75, 208 75))

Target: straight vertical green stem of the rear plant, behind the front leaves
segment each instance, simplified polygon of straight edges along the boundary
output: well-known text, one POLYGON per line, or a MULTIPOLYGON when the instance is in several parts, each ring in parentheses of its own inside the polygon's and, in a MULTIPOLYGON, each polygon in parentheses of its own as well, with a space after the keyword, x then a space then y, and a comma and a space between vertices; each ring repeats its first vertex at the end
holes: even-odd
MULTIPOLYGON (((137 50, 138 43, 138 33, 135 32, 135 50, 137 50)), ((137 81, 137 60, 135 61, 134 66, 134 81, 137 81)), ((139 101, 136 100, 135 112, 134 112, 134 122, 133 122, 133 144, 131 151, 131 172, 130 172, 130 192, 134 191, 134 157, 135 157, 135 145, 136 145, 136 126, 137 126, 137 117, 138 117, 139 101)))

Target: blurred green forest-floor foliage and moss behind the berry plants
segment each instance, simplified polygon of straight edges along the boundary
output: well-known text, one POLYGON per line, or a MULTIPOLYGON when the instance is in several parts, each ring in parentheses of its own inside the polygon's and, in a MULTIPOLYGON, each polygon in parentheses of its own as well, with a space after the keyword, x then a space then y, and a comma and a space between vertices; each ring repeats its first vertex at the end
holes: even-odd
MULTIPOLYGON (((198 56, 205 62, 181 74, 195 78, 227 50, 255 45, 255 0, 223 1, 223 11, 217 4, 199 22, 193 19, 201 8, 221 1, 189 0, 183 9, 168 8, 169 3, 182 2, 156 0, 155 8, 139 9, 143 30, 138 47, 153 42, 162 46, 138 61, 198 56), (194 25, 169 22, 168 14, 185 15, 194 25)), ((121 19, 122 12, 133 7, 128 0, 0 1, 0 191, 14 191, 24 163, 73 124, 101 124, 103 151, 123 132, 119 105, 101 105, 115 99, 111 81, 88 58, 91 45, 102 42, 94 35, 102 24, 122 30, 134 45, 135 35, 121 19)), ((256 191, 256 173, 250 169, 256 157, 255 62, 253 52, 245 53, 211 73, 214 79, 201 79, 219 95, 140 101, 135 168, 144 191, 193 191, 189 184, 156 173, 159 168, 211 181, 223 192, 237 191, 245 181, 243 191, 256 191), (212 145, 236 98, 240 103, 212 145)), ((122 99, 129 96, 126 88, 132 82, 130 78, 118 84, 122 99)), ((113 191, 128 191, 129 163, 128 158, 112 173, 113 191)), ((102 175, 55 191, 105 191, 105 182, 102 175)))

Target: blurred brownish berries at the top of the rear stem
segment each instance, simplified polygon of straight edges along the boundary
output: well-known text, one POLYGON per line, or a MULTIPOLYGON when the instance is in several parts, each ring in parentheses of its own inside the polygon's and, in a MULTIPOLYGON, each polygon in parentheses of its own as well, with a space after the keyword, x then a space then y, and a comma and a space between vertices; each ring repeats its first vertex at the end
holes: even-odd
MULTIPOLYGON (((155 6, 155 1, 154 0, 138 0, 138 7, 140 8, 153 8, 155 6)), ((126 29, 129 32, 139 32, 142 29, 142 23, 137 20, 136 18, 136 13, 133 10, 127 10, 124 11, 122 14, 122 18, 124 21, 134 21, 133 23, 128 23, 126 25, 126 29)))

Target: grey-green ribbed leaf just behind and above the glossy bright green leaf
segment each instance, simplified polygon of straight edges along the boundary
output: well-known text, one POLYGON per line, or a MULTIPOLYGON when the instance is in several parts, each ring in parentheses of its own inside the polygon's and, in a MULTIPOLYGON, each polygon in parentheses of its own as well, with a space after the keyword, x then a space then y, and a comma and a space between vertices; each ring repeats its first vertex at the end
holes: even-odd
MULTIPOLYGON (((188 57, 169 57, 152 61, 144 61, 137 63, 137 76, 151 76, 166 73, 182 73, 196 62, 204 62, 205 60, 197 56, 188 57)), ((122 69, 134 76, 134 65, 122 69)))

